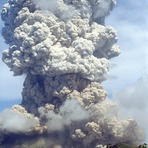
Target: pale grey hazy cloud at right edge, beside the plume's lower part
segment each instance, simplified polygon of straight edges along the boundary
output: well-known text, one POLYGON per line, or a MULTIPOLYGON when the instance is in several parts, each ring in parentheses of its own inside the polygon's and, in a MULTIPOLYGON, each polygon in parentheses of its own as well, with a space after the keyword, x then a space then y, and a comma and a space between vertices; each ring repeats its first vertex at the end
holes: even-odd
MULTIPOLYGON (((134 83, 127 85, 123 90, 114 95, 118 102, 122 117, 134 118, 145 133, 148 133, 148 75, 140 77, 134 83)), ((146 138, 148 142, 148 135, 146 138)))

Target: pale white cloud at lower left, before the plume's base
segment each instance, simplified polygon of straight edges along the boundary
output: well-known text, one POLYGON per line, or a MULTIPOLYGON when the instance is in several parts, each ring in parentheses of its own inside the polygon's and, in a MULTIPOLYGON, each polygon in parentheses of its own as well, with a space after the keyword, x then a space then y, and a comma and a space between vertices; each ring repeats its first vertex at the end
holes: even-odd
POLYGON ((0 129, 12 133, 26 133, 38 124, 35 117, 25 111, 22 106, 15 105, 0 113, 0 129))

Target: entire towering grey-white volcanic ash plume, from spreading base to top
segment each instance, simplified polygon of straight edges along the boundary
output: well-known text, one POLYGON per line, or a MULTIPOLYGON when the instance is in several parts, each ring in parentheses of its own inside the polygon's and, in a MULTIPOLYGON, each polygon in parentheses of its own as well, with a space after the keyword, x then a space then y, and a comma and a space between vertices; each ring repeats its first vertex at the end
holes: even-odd
POLYGON ((120 53, 116 30, 105 26, 115 4, 8 0, 1 16, 9 49, 2 59, 26 79, 22 103, 0 114, 1 145, 97 148, 144 140, 133 119, 119 119, 101 85, 109 59, 120 53))

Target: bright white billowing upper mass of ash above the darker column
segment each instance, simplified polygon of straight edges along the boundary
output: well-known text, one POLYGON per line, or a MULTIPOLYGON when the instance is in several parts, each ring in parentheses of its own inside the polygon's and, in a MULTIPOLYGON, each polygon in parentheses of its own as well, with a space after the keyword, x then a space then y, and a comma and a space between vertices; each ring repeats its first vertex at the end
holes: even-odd
MULTIPOLYGON (((61 5, 55 5, 56 13, 47 10, 46 15, 40 9, 34 10, 31 4, 32 7, 24 7, 19 12, 12 5, 10 8, 8 5, 4 7, 2 19, 7 25, 3 35, 10 47, 3 52, 3 61, 14 75, 28 71, 47 76, 80 73, 90 80, 106 79, 108 58, 119 54, 118 46, 114 45, 117 41, 115 29, 91 21, 94 2, 84 1, 87 7, 91 7, 85 8, 86 12, 91 13, 89 17, 83 16, 81 7, 77 6, 79 2, 59 2, 67 7, 75 7, 80 12, 74 18, 64 21, 56 14, 61 14, 58 12, 58 6, 61 5), (7 17, 11 10, 14 12, 10 16, 17 13, 17 16, 11 16, 14 23, 7 17)), ((85 7, 85 3, 81 5, 85 7)), ((108 3, 111 5, 113 1, 108 3)), ((18 3, 14 5, 19 6, 18 3)), ((50 6, 54 7, 52 1, 49 1, 50 6)))

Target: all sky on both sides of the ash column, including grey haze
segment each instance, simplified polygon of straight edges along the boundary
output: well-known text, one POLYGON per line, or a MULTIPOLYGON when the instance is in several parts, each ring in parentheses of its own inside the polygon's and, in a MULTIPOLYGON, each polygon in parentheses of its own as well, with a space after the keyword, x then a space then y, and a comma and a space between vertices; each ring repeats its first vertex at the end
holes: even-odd
MULTIPOLYGON (((0 9, 7 0, 0 0, 0 9)), ((121 112, 142 125, 148 123, 148 0, 117 0, 106 25, 118 32, 121 54, 110 61, 110 77, 103 82, 121 112), (140 118, 137 118, 137 115, 140 118)), ((0 30, 3 22, 0 20, 0 30)), ((0 58, 8 46, 0 35, 0 58)), ((14 77, 0 60, 0 111, 21 102, 24 77, 14 77)), ((143 125, 145 126, 145 125, 143 125)))

